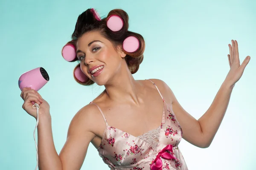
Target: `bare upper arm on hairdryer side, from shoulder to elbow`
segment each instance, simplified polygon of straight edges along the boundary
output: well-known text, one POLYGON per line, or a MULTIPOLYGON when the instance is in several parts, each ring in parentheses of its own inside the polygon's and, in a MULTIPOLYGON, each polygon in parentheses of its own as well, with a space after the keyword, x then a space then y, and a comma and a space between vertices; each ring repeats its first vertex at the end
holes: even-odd
POLYGON ((80 170, 90 141, 95 137, 91 131, 97 121, 93 120, 91 105, 82 108, 72 119, 67 133, 67 141, 59 156, 62 170, 80 170), (92 113, 92 114, 91 114, 92 113))

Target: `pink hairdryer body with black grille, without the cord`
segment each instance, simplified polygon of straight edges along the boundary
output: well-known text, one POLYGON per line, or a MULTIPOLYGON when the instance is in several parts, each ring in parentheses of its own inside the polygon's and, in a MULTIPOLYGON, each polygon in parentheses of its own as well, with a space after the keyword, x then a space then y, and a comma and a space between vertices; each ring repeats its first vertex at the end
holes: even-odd
POLYGON ((21 91, 25 87, 39 91, 48 81, 49 75, 47 71, 42 67, 38 67, 23 73, 19 78, 18 85, 21 91))

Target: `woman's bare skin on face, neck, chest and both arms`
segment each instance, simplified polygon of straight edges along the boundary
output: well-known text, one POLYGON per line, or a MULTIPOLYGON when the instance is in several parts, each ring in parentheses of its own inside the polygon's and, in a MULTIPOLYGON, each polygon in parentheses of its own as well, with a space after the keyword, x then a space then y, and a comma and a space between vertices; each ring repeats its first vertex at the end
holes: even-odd
MULTIPOLYGON (((125 63, 125 53, 120 47, 116 49, 99 32, 93 31, 79 38, 77 50, 80 52, 77 53, 77 56, 81 60, 81 70, 84 74, 98 85, 105 86, 105 91, 93 102, 102 109, 108 125, 126 131, 133 136, 140 136, 160 126, 163 100, 150 81, 133 78, 125 63), (94 40, 101 42, 93 42, 88 46, 94 40), (104 70, 98 77, 92 77, 88 73, 88 70, 95 65, 104 65, 104 70)), ((234 84, 240 79, 241 76, 239 75, 242 74, 249 62, 249 60, 244 60, 243 64, 240 66, 239 62, 238 66, 237 42, 232 41, 232 47, 229 56, 230 72, 212 105, 198 120, 182 108, 165 82, 151 79, 156 83, 165 102, 172 105, 177 120, 183 129, 183 138, 197 147, 205 148, 211 144, 226 112, 234 84), (240 71, 238 71, 239 68, 240 71)), ((29 89, 25 89, 21 96, 26 99, 25 103, 41 98, 40 94, 29 89), (34 97, 30 99, 25 97, 28 92, 34 97)), ((38 125, 38 129, 40 129, 38 132, 38 150, 40 151, 41 163, 39 165, 41 170, 49 167, 55 167, 59 170, 80 169, 90 142, 98 148, 102 140, 106 125, 99 109, 90 104, 76 113, 68 129, 67 141, 60 154, 57 155, 52 141, 50 113, 48 105, 44 105, 45 102, 41 103, 43 112, 40 114, 41 124, 38 125), (47 140, 43 141, 42 138, 47 138, 47 140), (51 149, 47 150, 47 148, 51 149), (51 159, 47 157, 49 154, 52 155, 51 159)), ((24 109, 26 110, 26 107, 24 109)))

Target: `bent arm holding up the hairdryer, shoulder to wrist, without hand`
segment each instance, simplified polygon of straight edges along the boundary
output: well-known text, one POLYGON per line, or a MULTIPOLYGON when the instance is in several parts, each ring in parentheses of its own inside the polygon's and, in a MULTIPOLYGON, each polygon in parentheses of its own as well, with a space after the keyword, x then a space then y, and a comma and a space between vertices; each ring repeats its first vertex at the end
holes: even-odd
POLYGON ((70 122, 67 141, 60 155, 56 152, 52 137, 51 118, 40 115, 38 124, 38 169, 39 170, 79 170, 84 162, 88 145, 94 134, 90 132, 90 119, 86 109, 76 113, 70 122))

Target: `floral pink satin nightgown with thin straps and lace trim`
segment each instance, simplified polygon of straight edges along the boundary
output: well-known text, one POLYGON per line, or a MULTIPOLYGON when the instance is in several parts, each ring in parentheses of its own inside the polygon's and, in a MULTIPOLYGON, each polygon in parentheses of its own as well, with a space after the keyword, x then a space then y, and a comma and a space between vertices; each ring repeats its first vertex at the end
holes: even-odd
MULTIPOLYGON (((157 91, 163 99, 158 88, 157 91)), ((99 108, 106 122, 98 151, 111 170, 188 170, 178 147, 182 129, 172 106, 164 99, 163 102, 161 125, 137 137, 109 126, 99 106, 91 102, 99 108)))

